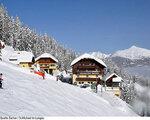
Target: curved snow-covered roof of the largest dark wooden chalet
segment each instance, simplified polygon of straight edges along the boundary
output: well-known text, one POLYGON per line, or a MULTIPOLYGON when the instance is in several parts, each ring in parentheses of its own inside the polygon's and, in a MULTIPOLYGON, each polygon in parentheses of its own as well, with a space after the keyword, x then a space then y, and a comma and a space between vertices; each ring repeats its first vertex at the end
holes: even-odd
POLYGON ((104 67, 107 67, 106 64, 101 59, 98 59, 98 58, 94 57, 93 55, 90 55, 90 54, 87 54, 87 53, 85 53, 85 54, 77 57, 76 59, 74 59, 71 62, 71 66, 74 65, 75 63, 77 63, 78 61, 82 60, 82 59, 93 59, 93 60, 97 61, 98 63, 100 63, 101 65, 103 65, 104 67))

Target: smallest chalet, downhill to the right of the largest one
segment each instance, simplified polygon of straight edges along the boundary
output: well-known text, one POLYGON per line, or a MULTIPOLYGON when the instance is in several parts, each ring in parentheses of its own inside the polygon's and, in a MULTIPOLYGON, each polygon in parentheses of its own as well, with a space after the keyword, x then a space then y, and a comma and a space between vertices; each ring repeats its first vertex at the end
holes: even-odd
POLYGON ((122 78, 119 77, 116 73, 106 75, 106 90, 112 92, 116 96, 121 95, 120 84, 122 78))

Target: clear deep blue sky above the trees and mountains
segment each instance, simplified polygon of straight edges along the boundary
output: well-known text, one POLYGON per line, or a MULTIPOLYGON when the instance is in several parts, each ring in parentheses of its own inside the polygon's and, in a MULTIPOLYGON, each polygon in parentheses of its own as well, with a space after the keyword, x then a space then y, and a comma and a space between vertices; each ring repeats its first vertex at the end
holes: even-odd
POLYGON ((150 0, 0 0, 9 15, 77 52, 150 49, 150 0))

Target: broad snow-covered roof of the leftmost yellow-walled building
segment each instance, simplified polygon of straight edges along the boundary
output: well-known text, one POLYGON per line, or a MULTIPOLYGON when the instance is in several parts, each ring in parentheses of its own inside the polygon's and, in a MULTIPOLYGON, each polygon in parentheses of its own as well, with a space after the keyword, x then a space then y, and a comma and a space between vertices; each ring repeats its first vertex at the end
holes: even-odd
POLYGON ((20 62, 32 62, 33 57, 34 55, 32 52, 14 51, 14 53, 10 56, 9 61, 15 64, 19 64, 20 62))

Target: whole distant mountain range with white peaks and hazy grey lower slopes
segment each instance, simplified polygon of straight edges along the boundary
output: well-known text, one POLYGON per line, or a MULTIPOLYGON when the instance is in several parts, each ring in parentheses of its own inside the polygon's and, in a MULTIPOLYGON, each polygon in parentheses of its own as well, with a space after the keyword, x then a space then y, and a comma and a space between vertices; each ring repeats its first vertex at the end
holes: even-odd
POLYGON ((150 77, 150 50, 131 46, 128 49, 119 50, 113 54, 104 54, 101 52, 91 53, 101 59, 109 59, 121 70, 130 75, 150 77))

